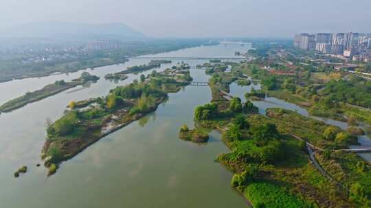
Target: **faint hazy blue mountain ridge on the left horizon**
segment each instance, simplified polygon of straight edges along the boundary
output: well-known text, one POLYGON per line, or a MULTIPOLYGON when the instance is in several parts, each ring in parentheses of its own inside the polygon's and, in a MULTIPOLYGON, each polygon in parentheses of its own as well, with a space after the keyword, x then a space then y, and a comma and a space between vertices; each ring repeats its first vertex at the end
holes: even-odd
POLYGON ((145 38, 144 34, 123 23, 25 23, 0 29, 0 36, 8 38, 145 38))

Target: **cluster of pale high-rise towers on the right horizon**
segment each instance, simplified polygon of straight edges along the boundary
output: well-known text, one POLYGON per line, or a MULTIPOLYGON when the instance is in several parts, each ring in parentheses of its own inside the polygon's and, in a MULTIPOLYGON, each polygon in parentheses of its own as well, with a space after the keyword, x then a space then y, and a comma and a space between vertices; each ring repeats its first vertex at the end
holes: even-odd
POLYGON ((297 34, 294 47, 306 51, 319 51, 353 61, 371 62, 371 34, 320 33, 297 34))

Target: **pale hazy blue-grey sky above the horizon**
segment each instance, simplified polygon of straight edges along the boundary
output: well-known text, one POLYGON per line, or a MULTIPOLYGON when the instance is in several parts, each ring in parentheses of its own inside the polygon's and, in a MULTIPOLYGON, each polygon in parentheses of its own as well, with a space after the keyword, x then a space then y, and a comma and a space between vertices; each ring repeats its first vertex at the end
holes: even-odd
POLYGON ((32 21, 120 22, 156 37, 291 37, 371 32, 371 0, 0 0, 0 27, 32 21))

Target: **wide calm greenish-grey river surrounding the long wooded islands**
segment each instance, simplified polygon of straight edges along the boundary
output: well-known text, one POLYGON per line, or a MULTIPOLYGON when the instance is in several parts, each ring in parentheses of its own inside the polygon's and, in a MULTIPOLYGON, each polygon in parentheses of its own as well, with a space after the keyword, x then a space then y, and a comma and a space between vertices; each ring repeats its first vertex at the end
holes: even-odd
MULTIPOLYGON (((159 56, 234 57, 235 51, 248 49, 196 47, 159 56)), ((148 62, 130 60, 86 71, 103 77, 148 62)), ((187 62, 192 66, 203 63, 187 62)), ((157 70, 169 66, 172 64, 163 64, 157 70)), ((83 71, 0 83, 0 103, 56 80, 75 79, 83 71)), ((191 75, 194 81, 208 79, 203 70, 192 70, 191 75)), ((1 114, 0 207, 248 207, 245 199, 230 187, 232 174, 214 162, 216 155, 228 152, 219 133, 212 131, 210 142, 204 145, 177 138, 181 125, 193 126, 194 107, 210 101, 207 87, 187 86, 170 94, 155 113, 89 146, 64 162, 52 177, 46 177, 45 168, 36 168, 41 163, 47 118, 56 120, 63 115, 69 101, 103 96, 111 88, 137 78, 138 75, 129 75, 117 83, 101 78, 90 87, 79 86, 1 114), (13 172, 22 165, 28 166, 27 174, 14 179, 13 172)))

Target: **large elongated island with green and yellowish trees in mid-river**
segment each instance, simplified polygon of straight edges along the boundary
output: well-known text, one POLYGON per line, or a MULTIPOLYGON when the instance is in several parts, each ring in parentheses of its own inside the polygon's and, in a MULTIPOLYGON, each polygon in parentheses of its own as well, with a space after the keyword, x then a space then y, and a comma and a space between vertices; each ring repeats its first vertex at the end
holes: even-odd
POLYGON ((52 170, 49 174, 54 173, 62 161, 74 157, 105 135, 155 111, 166 101, 168 93, 178 92, 190 81, 188 70, 166 69, 161 73, 154 70, 142 81, 117 87, 107 96, 72 104, 72 109, 63 117, 48 123, 42 158, 45 166, 52 170), (89 106, 78 109, 79 105, 89 106))

